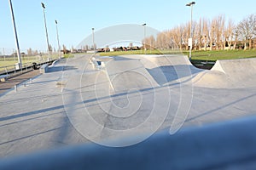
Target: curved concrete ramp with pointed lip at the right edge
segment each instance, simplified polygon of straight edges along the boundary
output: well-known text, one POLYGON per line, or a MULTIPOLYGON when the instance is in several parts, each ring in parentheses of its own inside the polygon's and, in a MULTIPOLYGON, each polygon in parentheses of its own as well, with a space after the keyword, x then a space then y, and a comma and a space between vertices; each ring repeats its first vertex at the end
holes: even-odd
POLYGON ((210 71, 202 71, 193 78, 201 88, 256 87, 256 58, 217 60, 210 71))

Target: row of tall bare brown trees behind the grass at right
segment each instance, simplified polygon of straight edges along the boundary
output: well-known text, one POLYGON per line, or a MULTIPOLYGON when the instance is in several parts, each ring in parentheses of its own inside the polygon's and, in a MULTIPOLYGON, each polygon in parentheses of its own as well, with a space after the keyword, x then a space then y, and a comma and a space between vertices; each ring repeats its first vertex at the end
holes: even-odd
MULTIPOLYGON (((212 20, 201 18, 192 22, 193 49, 224 50, 256 48, 256 14, 250 14, 238 24, 233 20, 225 20, 224 14, 212 20), (254 47, 253 47, 254 43, 254 47)), ((143 44, 147 48, 189 49, 190 22, 160 32, 157 37, 146 37, 143 44)))

